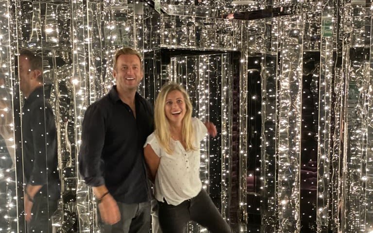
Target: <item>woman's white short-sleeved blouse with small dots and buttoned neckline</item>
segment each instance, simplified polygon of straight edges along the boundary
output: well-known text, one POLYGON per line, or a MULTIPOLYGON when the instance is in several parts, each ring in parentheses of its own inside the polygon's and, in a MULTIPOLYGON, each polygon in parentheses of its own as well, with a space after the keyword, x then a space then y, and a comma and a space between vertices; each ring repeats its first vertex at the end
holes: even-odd
POLYGON ((178 205, 184 200, 194 198, 202 189, 200 180, 200 142, 206 136, 207 129, 198 118, 192 118, 195 140, 193 146, 197 150, 186 151, 179 141, 170 140, 172 155, 160 147, 154 133, 148 136, 144 147, 152 146, 155 154, 161 158, 155 176, 154 196, 156 200, 163 198, 171 205, 178 205))

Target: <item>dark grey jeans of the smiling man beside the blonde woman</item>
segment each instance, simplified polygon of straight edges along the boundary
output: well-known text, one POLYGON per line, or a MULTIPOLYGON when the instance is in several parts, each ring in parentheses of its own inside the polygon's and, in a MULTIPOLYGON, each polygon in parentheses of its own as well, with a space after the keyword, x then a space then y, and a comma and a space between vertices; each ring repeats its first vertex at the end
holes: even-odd
POLYGON ((105 224, 101 221, 100 214, 98 215, 101 233, 149 233, 150 201, 135 204, 117 202, 117 204, 120 220, 116 224, 105 224))

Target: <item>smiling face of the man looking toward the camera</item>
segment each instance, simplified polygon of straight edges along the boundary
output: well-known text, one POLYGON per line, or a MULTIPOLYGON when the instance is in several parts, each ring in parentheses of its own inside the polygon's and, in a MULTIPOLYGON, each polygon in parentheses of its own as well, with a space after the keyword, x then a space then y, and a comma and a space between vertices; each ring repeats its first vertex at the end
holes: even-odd
POLYGON ((118 92, 136 91, 143 78, 140 59, 132 54, 120 55, 113 75, 117 81, 118 92))

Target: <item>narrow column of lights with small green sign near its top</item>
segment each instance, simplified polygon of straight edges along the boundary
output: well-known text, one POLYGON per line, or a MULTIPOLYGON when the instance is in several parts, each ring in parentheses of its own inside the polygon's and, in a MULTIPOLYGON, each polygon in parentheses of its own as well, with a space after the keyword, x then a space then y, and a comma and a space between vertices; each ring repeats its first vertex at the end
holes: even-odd
POLYGON ((329 226, 330 155, 331 155, 331 104, 333 82, 333 33, 334 0, 326 0, 322 9, 318 169, 317 169, 317 232, 327 231, 329 226))

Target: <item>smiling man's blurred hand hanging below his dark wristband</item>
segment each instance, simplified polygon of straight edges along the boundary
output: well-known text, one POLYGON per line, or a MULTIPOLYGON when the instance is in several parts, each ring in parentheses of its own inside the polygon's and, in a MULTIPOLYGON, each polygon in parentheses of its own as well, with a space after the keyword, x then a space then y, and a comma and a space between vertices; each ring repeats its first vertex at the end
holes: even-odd
POLYGON ((99 203, 101 219, 104 223, 114 225, 120 220, 117 201, 110 194, 105 195, 99 203))

